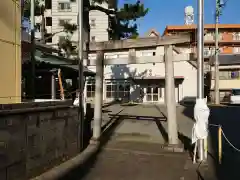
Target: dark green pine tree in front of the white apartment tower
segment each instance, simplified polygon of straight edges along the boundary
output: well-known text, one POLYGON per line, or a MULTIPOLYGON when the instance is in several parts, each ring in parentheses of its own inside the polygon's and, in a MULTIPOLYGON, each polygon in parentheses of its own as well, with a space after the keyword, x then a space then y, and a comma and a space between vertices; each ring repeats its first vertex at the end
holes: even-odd
MULTIPOLYGON (((24 0, 24 11, 23 15, 27 18, 30 17, 30 1, 24 0)), ((73 0, 72 0, 73 1, 73 0)), ((76 0, 74 0, 76 1, 76 0)), ((109 16, 110 27, 108 32, 110 39, 125 39, 125 38, 136 38, 138 36, 138 27, 136 21, 138 18, 144 17, 148 13, 148 9, 144 8, 144 5, 137 0, 135 4, 125 4, 124 7, 117 9, 114 7, 115 0, 93 0, 90 3, 89 0, 83 1, 83 38, 86 47, 90 41, 90 25, 89 25, 89 12, 91 10, 99 10, 109 16), (109 8, 106 9, 100 6, 102 3, 108 3, 109 8), (113 7, 113 8, 111 8, 113 7)), ((35 15, 43 16, 44 7, 39 5, 39 0, 36 0, 35 15)), ((77 25, 65 23, 61 32, 66 32, 68 36, 59 42, 59 49, 63 49, 67 52, 67 56, 76 51, 76 47, 71 42, 71 35, 77 30, 77 25)), ((60 32, 57 32, 60 33, 60 32)), ((54 36, 55 34, 52 34, 54 36)), ((84 58, 87 57, 87 52, 84 53, 84 58)))

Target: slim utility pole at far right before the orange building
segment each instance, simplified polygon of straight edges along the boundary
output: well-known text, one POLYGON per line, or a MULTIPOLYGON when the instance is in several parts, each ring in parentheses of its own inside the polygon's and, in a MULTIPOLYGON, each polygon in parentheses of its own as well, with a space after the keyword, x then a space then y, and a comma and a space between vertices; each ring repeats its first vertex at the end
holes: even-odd
POLYGON ((218 32, 218 24, 219 24, 219 16, 221 15, 221 8, 224 5, 221 0, 216 0, 216 12, 215 12, 215 104, 220 103, 219 98, 219 47, 218 47, 218 38, 219 38, 219 32, 218 32))

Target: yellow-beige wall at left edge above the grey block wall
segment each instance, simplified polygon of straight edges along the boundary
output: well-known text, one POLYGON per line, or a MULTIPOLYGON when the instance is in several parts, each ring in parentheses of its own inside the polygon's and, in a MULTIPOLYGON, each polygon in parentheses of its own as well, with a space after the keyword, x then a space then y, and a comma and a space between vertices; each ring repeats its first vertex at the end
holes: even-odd
POLYGON ((0 1, 0 104, 21 102, 20 0, 0 1))

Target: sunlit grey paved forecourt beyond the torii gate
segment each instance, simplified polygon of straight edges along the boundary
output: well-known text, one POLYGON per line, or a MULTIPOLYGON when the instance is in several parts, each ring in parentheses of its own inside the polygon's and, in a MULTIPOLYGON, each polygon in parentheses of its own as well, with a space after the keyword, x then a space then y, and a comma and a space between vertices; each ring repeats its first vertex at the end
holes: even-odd
MULTIPOLYGON (((115 104, 104 108, 104 111, 103 125, 113 120, 114 116, 122 118, 112 135, 119 140, 150 141, 160 144, 168 141, 167 109, 164 105, 115 104)), ((194 124, 192 109, 178 105, 177 123, 180 141, 189 144, 194 124)))

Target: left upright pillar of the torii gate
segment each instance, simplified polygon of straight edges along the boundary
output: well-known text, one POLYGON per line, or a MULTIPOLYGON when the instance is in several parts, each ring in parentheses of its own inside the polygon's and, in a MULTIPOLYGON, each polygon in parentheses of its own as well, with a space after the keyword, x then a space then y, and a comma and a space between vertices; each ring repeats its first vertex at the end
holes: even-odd
POLYGON ((103 60, 104 52, 97 52, 96 64, 96 84, 95 84, 95 106, 94 106, 94 122, 93 122, 93 140, 98 140, 101 135, 102 127, 102 103, 103 103, 103 60))

